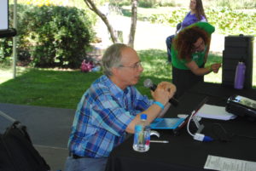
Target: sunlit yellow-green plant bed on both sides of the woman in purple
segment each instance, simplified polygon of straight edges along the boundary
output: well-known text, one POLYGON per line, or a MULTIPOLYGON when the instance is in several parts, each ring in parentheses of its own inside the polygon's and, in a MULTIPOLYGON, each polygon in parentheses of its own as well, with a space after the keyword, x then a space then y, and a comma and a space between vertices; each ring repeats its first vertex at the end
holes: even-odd
MULTIPOLYGON (((245 10, 246 11, 246 10, 245 10)), ((151 14, 144 16, 152 23, 168 24, 176 27, 181 22, 188 9, 172 10, 169 14, 151 14)), ((229 8, 206 9, 207 19, 216 31, 221 34, 244 34, 253 35, 256 33, 256 13, 245 13, 243 10, 229 8)))

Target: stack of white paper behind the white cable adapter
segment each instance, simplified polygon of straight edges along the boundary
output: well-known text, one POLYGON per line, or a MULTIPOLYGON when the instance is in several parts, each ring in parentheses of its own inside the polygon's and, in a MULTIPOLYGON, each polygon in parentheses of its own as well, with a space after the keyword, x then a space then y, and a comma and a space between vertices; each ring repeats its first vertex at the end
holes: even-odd
POLYGON ((230 120, 236 118, 236 115, 225 111, 225 107, 217 105, 203 105, 196 114, 197 117, 205 117, 211 119, 230 120))

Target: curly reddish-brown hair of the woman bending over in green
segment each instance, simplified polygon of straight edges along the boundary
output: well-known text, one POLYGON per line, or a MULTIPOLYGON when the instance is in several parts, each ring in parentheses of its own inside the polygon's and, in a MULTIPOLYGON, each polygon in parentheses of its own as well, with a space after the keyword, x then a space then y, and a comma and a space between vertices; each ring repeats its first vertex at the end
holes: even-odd
POLYGON ((193 53, 194 43, 196 43, 200 37, 206 45, 210 43, 210 37, 207 32, 198 26, 192 26, 180 31, 177 34, 177 37, 173 40, 174 47, 177 49, 177 57, 181 60, 190 61, 192 58, 191 54, 193 53))

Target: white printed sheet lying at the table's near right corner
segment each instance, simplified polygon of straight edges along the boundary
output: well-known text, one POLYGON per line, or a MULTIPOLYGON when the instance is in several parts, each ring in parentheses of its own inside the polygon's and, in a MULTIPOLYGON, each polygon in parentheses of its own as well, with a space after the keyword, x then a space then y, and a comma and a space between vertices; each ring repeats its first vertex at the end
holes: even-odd
POLYGON ((204 168, 221 171, 255 171, 256 162, 208 155, 204 168))

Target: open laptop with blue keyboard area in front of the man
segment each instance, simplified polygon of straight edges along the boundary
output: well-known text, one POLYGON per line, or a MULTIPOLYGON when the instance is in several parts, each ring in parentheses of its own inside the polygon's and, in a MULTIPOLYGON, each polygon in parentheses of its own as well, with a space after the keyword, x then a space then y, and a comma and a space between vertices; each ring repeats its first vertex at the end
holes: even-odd
POLYGON ((189 122, 189 117, 191 115, 195 116, 195 114, 201 109, 202 105, 206 104, 207 100, 207 97, 204 100, 202 100, 201 103, 195 107, 195 110, 192 111, 188 117, 155 118, 154 121, 150 124, 150 128, 172 129, 173 132, 176 134, 181 128, 183 128, 189 122))

